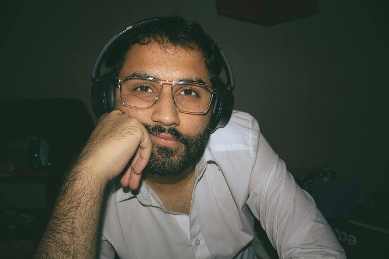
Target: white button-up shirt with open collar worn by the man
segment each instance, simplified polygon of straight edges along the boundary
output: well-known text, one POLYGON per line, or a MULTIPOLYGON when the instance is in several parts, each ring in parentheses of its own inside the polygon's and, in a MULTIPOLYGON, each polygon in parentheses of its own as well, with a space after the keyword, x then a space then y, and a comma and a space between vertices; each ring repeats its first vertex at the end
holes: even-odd
POLYGON ((280 258, 346 258, 312 197, 249 114, 233 111, 196 163, 189 215, 166 210, 144 181, 110 182, 100 217, 100 258, 256 258, 254 218, 280 258))

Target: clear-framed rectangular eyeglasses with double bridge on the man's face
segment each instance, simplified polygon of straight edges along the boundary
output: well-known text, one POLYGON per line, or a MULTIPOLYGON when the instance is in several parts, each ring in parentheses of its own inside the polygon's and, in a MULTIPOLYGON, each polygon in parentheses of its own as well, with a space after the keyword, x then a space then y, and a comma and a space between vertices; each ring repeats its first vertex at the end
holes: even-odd
POLYGON ((202 114, 210 107, 214 87, 196 82, 160 80, 145 76, 117 78, 121 104, 132 108, 151 108, 158 101, 163 85, 170 85, 175 108, 183 113, 202 114))

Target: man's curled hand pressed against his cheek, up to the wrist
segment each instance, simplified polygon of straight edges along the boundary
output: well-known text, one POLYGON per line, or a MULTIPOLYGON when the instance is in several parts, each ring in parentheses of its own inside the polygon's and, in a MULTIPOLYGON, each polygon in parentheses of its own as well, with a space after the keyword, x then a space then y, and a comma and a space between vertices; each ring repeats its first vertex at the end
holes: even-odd
POLYGON ((142 123, 114 110, 100 117, 80 159, 83 165, 95 169, 102 183, 124 172, 121 184, 137 189, 151 149, 149 132, 142 123))

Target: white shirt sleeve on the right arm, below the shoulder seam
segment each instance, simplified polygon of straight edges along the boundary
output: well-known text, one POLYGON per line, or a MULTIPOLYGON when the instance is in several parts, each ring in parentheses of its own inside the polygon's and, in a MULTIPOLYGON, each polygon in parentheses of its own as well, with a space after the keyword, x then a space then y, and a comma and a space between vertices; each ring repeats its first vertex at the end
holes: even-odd
POLYGON ((262 135, 247 205, 280 258, 346 258, 312 197, 296 184, 262 135))

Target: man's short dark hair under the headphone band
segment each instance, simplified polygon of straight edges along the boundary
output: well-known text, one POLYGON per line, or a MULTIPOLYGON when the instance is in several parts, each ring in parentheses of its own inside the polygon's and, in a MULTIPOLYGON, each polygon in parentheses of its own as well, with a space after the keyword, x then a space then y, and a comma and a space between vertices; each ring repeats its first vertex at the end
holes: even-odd
POLYGON ((161 47, 178 46, 187 50, 202 50, 211 83, 216 85, 216 77, 220 74, 223 64, 216 43, 204 32, 200 24, 179 15, 149 21, 120 37, 105 59, 105 66, 110 68, 116 77, 131 46, 146 45, 150 42, 156 42, 161 47))

